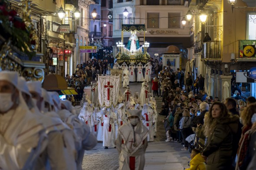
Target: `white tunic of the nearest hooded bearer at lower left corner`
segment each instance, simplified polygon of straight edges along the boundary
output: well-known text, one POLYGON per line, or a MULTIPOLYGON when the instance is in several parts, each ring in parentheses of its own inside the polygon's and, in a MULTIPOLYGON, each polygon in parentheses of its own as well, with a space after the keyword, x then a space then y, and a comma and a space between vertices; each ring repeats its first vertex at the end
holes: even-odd
POLYGON ((21 170, 26 164, 33 164, 47 145, 43 124, 21 104, 0 114, 0 132, 0 167, 3 170, 21 170))

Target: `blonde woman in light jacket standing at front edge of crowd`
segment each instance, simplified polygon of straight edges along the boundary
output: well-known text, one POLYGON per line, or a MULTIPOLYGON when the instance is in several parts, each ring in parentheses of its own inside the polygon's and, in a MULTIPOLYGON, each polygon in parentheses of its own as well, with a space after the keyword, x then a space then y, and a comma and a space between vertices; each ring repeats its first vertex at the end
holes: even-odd
POLYGON ((183 117, 180 120, 180 129, 181 129, 181 136, 184 142, 184 148, 181 150, 187 151, 189 144, 188 144, 188 141, 186 141, 186 138, 193 133, 192 128, 190 128, 190 123, 191 123, 190 112, 187 109, 184 109, 182 116, 183 117))

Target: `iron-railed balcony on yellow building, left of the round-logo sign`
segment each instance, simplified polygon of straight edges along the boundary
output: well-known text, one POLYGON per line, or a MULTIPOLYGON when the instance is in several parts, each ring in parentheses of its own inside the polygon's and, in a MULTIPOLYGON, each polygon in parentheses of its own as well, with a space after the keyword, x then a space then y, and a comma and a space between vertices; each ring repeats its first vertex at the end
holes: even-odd
POLYGON ((209 41, 209 42, 203 43, 202 59, 221 59, 221 58, 222 58, 222 42, 221 41, 209 41))

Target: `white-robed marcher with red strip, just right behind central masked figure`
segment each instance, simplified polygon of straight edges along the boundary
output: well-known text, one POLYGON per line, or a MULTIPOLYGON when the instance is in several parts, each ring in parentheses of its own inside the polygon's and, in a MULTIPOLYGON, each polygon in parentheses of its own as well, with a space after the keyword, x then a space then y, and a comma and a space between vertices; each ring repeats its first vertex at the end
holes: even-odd
POLYGON ((148 128, 148 141, 154 141, 154 127, 155 124, 155 115, 153 109, 148 106, 148 104, 144 104, 142 109, 142 123, 148 128))

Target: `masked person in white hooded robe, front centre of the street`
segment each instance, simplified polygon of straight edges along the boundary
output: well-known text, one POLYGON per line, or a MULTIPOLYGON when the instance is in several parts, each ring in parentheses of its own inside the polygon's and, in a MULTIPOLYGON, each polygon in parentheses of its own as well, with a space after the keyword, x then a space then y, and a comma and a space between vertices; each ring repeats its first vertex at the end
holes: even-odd
POLYGON ((128 110, 128 123, 118 129, 116 147, 119 170, 143 170, 148 129, 141 123, 141 110, 128 110))

